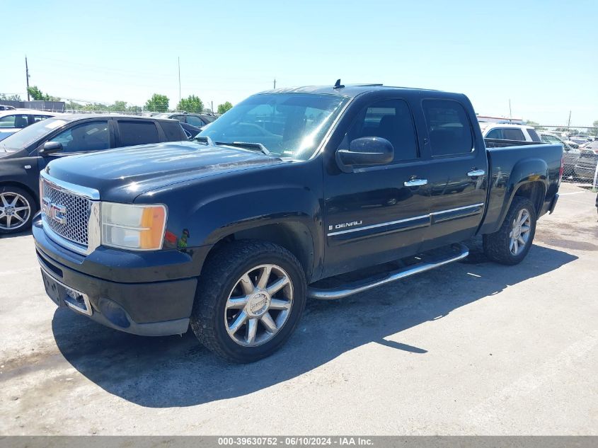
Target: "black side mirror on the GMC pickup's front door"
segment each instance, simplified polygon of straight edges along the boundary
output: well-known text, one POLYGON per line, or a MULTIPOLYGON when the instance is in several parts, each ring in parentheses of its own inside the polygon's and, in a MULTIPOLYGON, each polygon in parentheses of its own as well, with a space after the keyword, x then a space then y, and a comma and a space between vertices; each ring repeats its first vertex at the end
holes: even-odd
POLYGON ((354 165, 386 165, 393 159, 393 144, 382 137, 361 137, 353 140, 349 149, 336 151, 338 166, 345 173, 354 165))

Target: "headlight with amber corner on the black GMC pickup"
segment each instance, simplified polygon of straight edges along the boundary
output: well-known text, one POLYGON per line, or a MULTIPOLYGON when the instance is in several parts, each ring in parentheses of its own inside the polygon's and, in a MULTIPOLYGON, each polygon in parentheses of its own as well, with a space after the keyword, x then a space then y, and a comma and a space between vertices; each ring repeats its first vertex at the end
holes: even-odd
POLYGON ((136 251, 162 248, 166 206, 101 203, 102 244, 136 251))

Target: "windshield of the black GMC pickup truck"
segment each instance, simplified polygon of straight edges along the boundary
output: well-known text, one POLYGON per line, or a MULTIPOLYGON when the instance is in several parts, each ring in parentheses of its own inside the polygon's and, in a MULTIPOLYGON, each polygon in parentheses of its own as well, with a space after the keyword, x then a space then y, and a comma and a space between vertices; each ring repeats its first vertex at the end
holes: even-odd
POLYGON ((198 136, 221 144, 259 143, 272 155, 307 160, 348 99, 312 93, 262 93, 236 105, 198 136))

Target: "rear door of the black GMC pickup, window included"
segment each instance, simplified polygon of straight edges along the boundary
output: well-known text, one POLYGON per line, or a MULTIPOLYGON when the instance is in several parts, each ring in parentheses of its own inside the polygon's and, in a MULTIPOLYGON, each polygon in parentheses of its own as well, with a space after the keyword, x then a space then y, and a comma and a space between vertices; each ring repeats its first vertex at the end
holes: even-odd
POLYGON ((471 104, 454 99, 421 102, 431 160, 427 166, 431 226, 422 250, 463 241, 481 222, 487 187, 488 159, 471 104))

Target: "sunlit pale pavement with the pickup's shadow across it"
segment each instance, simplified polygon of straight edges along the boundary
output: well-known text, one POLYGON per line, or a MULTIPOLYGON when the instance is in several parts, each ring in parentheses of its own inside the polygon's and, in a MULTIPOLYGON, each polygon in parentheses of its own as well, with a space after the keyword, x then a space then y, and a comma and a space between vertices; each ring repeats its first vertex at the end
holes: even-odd
POLYGON ((561 193, 521 265, 311 302, 241 366, 57 310, 31 236, 2 239, 0 434, 598 435, 596 195, 561 193))

